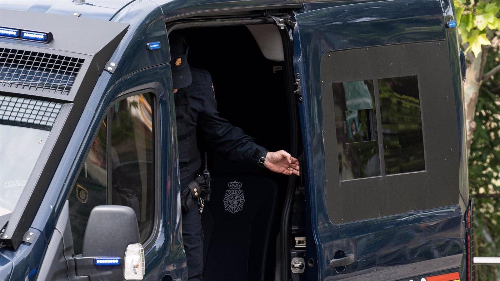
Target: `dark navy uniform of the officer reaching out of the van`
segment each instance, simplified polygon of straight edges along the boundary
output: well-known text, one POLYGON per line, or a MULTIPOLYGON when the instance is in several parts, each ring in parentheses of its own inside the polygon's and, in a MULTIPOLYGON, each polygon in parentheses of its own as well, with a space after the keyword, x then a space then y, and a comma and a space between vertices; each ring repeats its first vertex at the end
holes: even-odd
MULTIPOLYGON (((171 50, 173 53, 173 48, 171 50)), ((185 59, 186 54, 178 57, 172 54, 172 73, 176 71, 175 67, 182 67, 185 59)), ((174 93, 181 190, 187 188, 201 165, 197 138, 205 141, 209 148, 224 158, 235 161, 251 159, 256 165, 258 159, 265 156, 267 151, 255 144, 243 130, 232 126, 219 116, 210 74, 206 70, 193 67, 190 68, 190 74, 190 85, 179 88, 174 93), (196 131, 200 135, 196 135, 196 131)), ((180 79, 185 79, 186 76, 188 75, 183 73, 180 79)), ((175 82, 178 81, 174 81, 174 88, 175 82)), ((189 211, 182 214, 182 238, 189 280, 202 280, 203 236, 196 200, 189 211)))

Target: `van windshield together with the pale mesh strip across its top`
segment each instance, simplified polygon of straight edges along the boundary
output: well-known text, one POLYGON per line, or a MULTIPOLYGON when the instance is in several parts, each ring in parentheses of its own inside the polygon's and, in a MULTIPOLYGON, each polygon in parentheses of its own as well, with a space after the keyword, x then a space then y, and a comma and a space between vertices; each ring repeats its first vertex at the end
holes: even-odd
POLYGON ((0 95, 0 216, 14 210, 60 107, 0 95))

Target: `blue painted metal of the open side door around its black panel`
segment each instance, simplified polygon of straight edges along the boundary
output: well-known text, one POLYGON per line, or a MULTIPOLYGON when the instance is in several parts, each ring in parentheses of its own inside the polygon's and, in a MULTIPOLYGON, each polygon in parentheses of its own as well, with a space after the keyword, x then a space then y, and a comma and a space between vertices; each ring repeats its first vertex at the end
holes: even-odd
MULTIPOLYGON (((307 173, 311 207, 308 215, 316 242, 311 245, 315 249, 308 251, 317 253, 317 280, 395 280, 437 271, 458 271, 464 253, 462 200, 459 205, 341 225, 328 219, 322 133, 325 128, 320 103, 321 56, 331 50, 438 39, 446 39, 452 46, 452 57, 458 54, 456 37, 450 38, 449 31, 444 30, 443 10, 438 0, 347 3, 351 2, 323 3, 331 7, 296 16, 298 32, 295 33, 299 36, 300 50, 295 50, 295 56, 301 57, 294 62, 295 71, 301 76, 300 110, 306 159, 302 172, 307 173), (337 249, 356 256, 355 263, 340 274, 329 266, 337 249)), ((452 63, 453 78, 459 79, 457 60, 452 63)), ((455 86, 455 94, 459 94, 459 83, 455 86)), ((456 100, 461 97, 456 96, 456 100)), ((456 108, 460 111, 463 107, 457 104, 456 108)), ((459 141, 462 146, 463 139, 459 141)), ((466 163, 463 155, 460 160, 466 163)), ((466 171, 460 171, 460 176, 461 186, 466 186, 466 171)))

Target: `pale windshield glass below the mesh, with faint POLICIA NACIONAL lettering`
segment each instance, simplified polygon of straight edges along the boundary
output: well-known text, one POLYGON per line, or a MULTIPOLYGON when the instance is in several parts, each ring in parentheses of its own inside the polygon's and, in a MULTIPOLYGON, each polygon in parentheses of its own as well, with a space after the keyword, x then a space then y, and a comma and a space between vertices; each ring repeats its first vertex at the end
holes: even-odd
POLYGON ((0 216, 14 210, 49 133, 0 121, 0 216))

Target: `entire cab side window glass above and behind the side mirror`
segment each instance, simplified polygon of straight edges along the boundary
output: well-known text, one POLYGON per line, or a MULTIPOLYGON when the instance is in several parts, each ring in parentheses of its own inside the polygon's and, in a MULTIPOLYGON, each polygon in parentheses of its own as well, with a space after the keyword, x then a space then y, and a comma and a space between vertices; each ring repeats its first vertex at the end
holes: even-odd
POLYGON ((150 94, 114 103, 90 144, 69 194, 69 215, 75 254, 81 253, 86 222, 96 205, 131 207, 141 242, 154 220, 153 106, 150 94))

